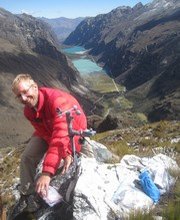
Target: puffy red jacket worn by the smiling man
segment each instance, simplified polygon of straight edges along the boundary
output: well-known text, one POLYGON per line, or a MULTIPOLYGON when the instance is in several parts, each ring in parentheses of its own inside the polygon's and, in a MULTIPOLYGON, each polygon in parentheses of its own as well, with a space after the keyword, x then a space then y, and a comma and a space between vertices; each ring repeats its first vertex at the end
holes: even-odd
MULTIPOLYGON (((62 112, 74 105, 81 111, 80 115, 73 114, 73 129, 87 128, 86 116, 77 100, 69 93, 58 89, 40 88, 37 111, 25 106, 24 115, 35 128, 34 135, 43 138, 48 143, 48 150, 43 163, 43 172, 54 174, 62 158, 72 154, 66 115, 59 116, 57 109, 62 112)), ((75 136, 76 151, 81 149, 79 136, 75 136)))

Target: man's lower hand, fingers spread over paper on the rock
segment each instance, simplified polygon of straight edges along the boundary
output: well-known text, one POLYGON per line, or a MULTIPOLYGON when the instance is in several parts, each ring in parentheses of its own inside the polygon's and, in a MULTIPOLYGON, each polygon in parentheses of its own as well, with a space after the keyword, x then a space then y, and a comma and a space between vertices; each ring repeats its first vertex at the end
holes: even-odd
POLYGON ((47 197, 51 176, 48 173, 42 173, 36 182, 36 192, 43 197, 47 197))

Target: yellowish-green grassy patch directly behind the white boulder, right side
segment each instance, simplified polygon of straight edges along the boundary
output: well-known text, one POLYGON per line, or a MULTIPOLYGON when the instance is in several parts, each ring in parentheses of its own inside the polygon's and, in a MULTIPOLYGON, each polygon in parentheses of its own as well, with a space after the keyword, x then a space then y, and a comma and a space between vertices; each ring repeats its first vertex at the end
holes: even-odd
POLYGON ((179 153, 180 141, 173 142, 172 140, 176 140, 179 130, 180 122, 160 121, 136 128, 102 132, 94 139, 106 145, 120 157, 124 153, 153 156, 154 153, 159 152, 175 156, 179 153))

